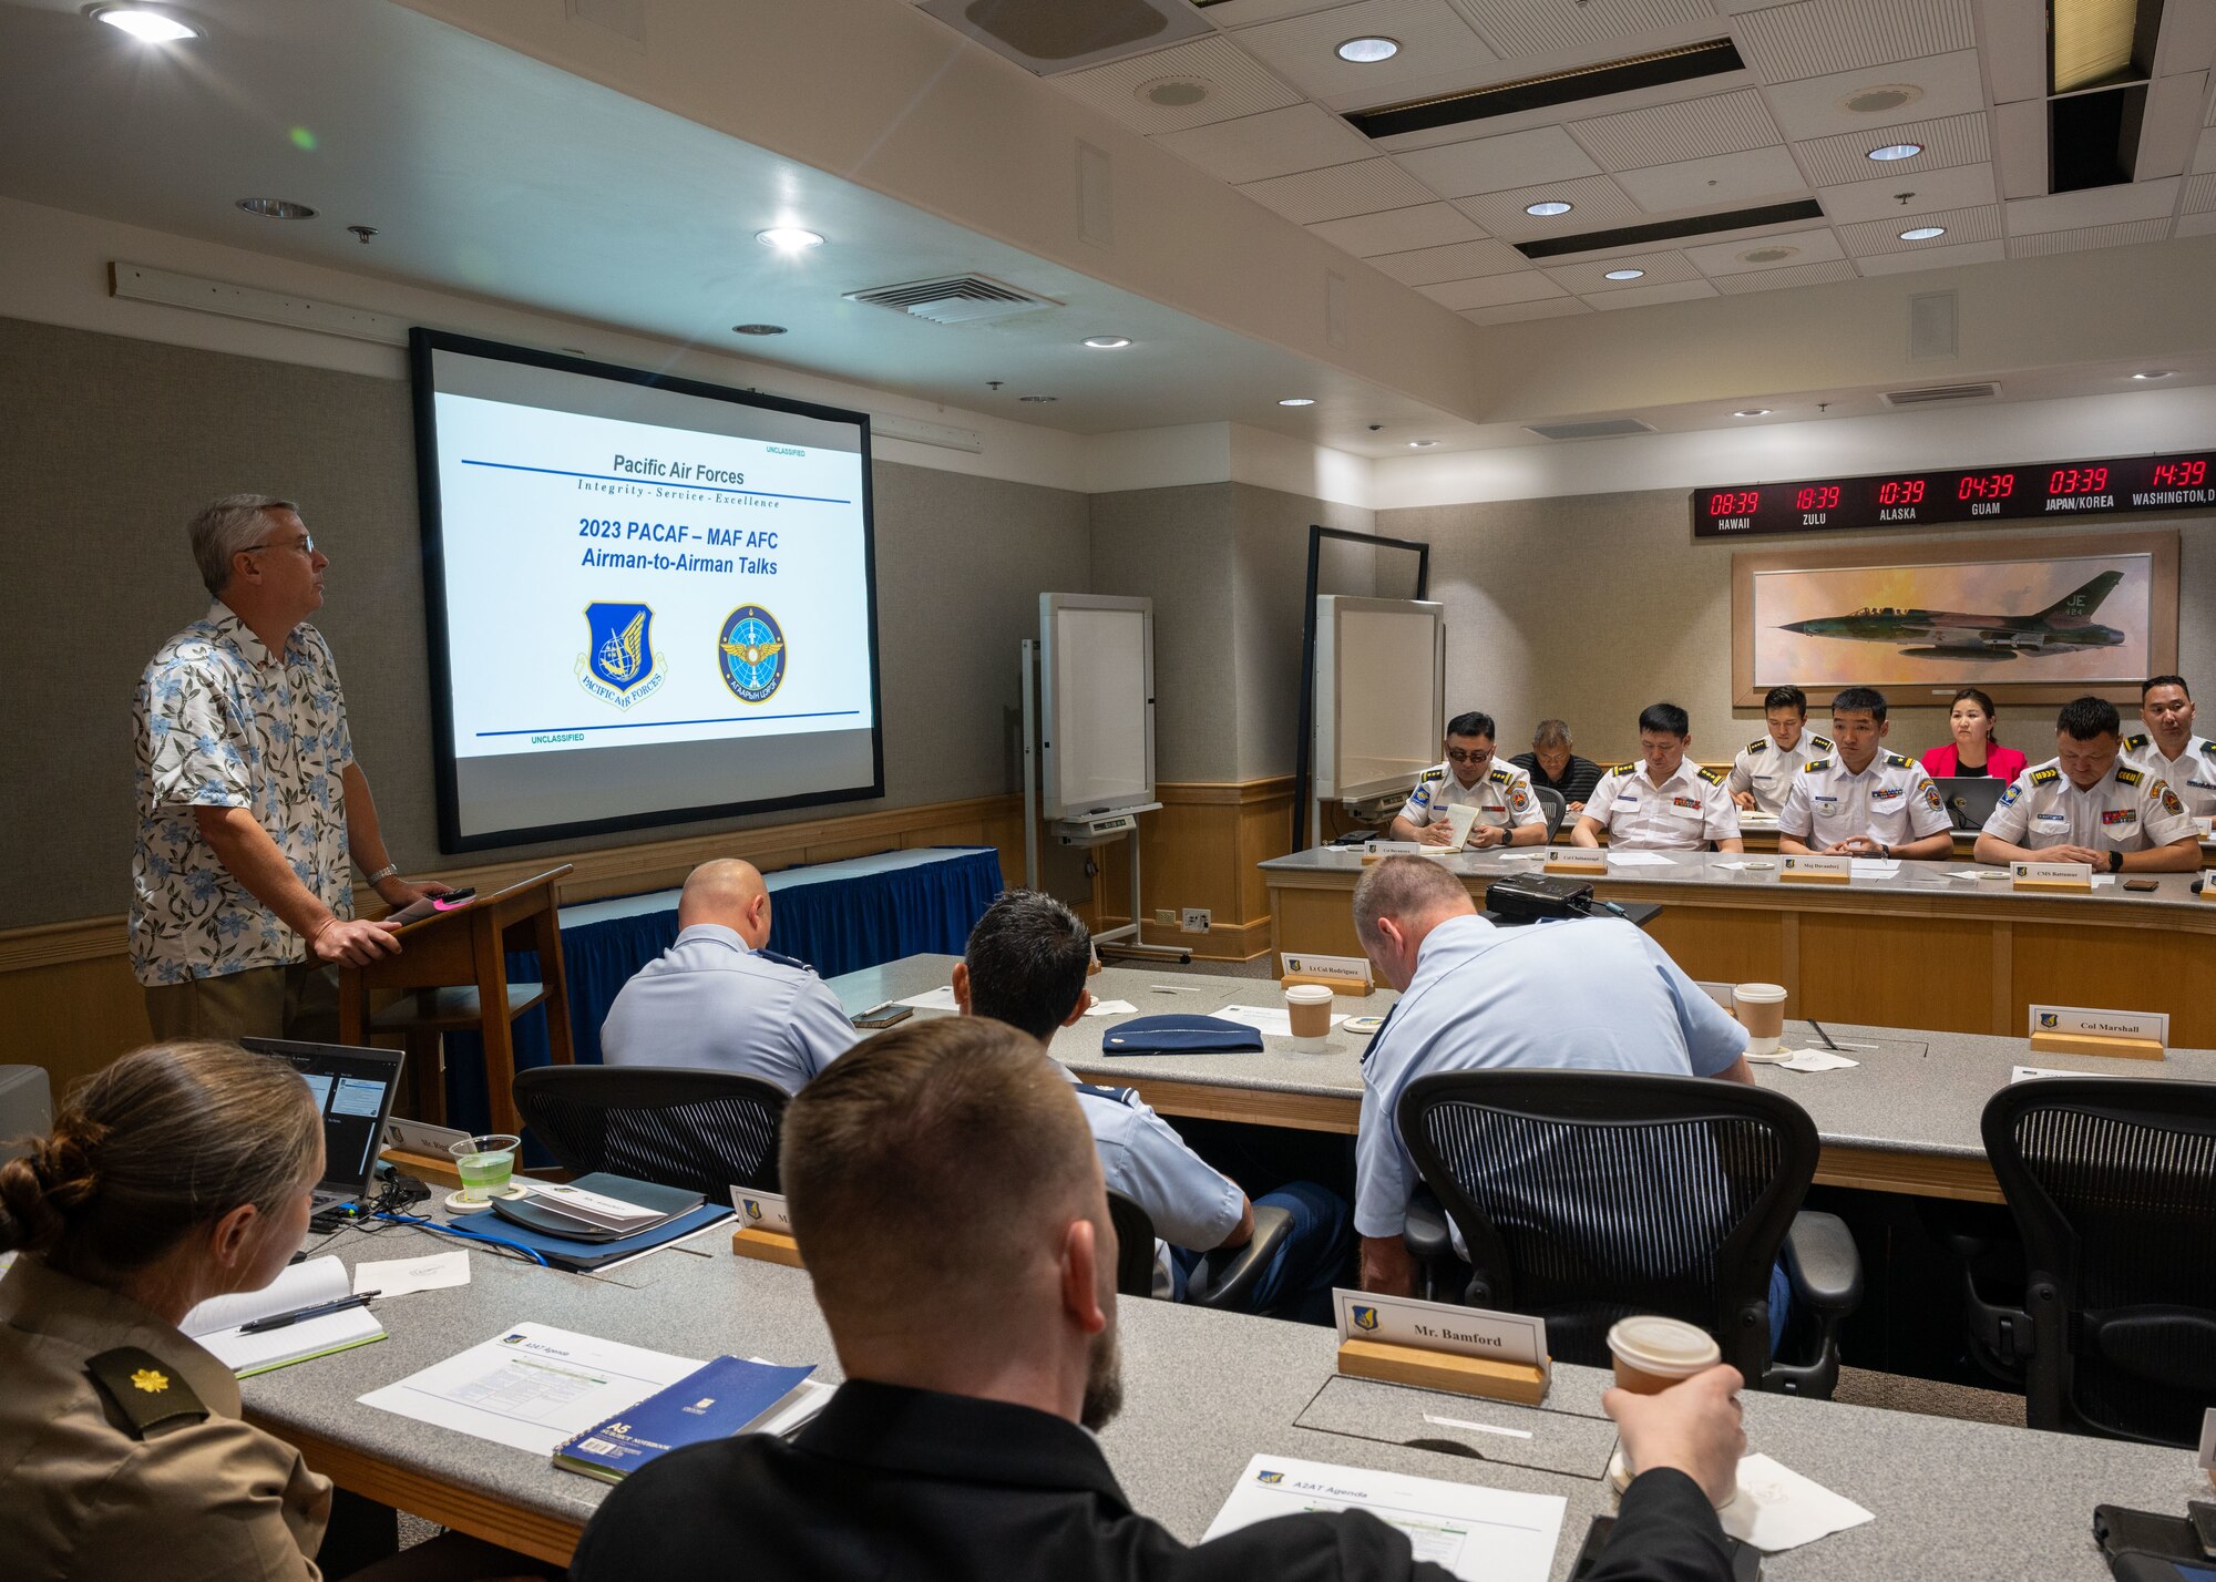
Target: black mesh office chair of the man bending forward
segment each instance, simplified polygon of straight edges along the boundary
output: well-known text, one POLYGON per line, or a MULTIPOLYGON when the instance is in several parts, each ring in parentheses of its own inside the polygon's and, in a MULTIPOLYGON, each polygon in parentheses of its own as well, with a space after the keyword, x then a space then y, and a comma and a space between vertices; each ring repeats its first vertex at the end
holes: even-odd
MULTIPOLYGON (((1828 1398, 1861 1259, 1833 1214, 1802 1214, 1817 1134, 1784 1095, 1711 1077, 1474 1070, 1418 1077, 1401 1137, 1463 1232, 1474 1307, 1547 1321, 1567 1363, 1609 1363, 1609 1325, 1662 1314, 1715 1336, 1748 1383, 1828 1398), (1771 1360, 1771 1263, 1797 1332, 1771 1360)), ((1434 1261, 1445 1225, 1412 1219, 1434 1261)))

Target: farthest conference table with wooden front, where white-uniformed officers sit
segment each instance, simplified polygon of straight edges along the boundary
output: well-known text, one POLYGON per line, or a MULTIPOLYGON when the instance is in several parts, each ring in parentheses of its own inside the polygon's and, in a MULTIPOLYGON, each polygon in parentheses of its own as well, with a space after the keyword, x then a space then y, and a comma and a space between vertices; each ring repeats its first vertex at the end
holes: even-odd
MULTIPOLYGON (((1611 853, 1624 855, 1624 853, 1611 853)), ((2154 891, 2017 891, 2005 869, 1901 862, 1888 877, 1786 884, 1775 855, 1629 853, 1591 877, 1602 900, 1658 902, 1655 942, 1686 973, 1724 984, 1784 984, 1819 1021, 2010 1035, 2032 1004, 2165 1010, 2169 1037, 2216 1048, 2216 902, 2194 873, 2158 873, 2154 891), (1755 866, 1737 866, 1755 864, 1755 866), (1983 873, 1986 877, 1961 877, 1983 873)), ((1474 897, 1536 857, 1458 853, 1443 862, 1474 897)), ((1363 855, 1296 851, 1261 864, 1274 951, 1361 955, 1352 895, 1363 855)), ((2099 875, 2112 877, 2112 875, 2099 875)))

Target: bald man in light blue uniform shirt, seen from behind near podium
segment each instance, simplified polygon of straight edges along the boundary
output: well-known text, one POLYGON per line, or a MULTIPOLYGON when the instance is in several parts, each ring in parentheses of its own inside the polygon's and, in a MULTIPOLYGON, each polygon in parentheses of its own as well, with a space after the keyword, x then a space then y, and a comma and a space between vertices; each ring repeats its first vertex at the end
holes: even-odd
POLYGON ((769 944, 769 886, 738 857, 702 862, 678 937, 623 986, 601 1024, 607 1066, 705 1066, 800 1092, 860 1035, 815 973, 769 944))

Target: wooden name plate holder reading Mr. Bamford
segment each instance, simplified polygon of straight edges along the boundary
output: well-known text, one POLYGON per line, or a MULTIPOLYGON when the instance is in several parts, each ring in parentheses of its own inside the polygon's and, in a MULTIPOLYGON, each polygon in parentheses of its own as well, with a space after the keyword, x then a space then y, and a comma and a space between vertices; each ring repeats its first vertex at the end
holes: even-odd
POLYGON ((1332 1292, 1338 1309, 1338 1372, 1385 1385, 1443 1389, 1536 1407, 1553 1383, 1547 1325, 1407 1296, 1332 1292))

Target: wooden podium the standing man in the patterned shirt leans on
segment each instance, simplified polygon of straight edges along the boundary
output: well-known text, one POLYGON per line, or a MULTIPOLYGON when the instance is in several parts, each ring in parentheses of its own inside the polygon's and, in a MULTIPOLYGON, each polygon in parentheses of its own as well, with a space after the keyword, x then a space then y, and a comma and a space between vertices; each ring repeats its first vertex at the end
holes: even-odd
POLYGON ((485 1090, 492 1130, 519 1134, 516 1017, 545 1001, 554 1064, 576 1059, 570 1041, 570 979, 561 964, 556 886, 570 864, 479 895, 468 906, 423 917, 397 935, 399 955, 339 970, 339 1041, 366 1044, 370 1033, 399 1033, 408 1050, 410 1119, 445 1126, 443 1033, 474 1030, 485 1039, 485 1090), (507 953, 536 951, 536 984, 507 982, 507 953), (406 990, 370 1013, 370 997, 406 990))

